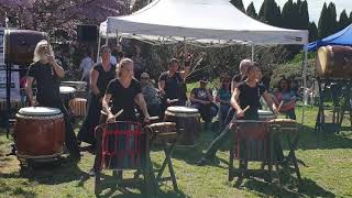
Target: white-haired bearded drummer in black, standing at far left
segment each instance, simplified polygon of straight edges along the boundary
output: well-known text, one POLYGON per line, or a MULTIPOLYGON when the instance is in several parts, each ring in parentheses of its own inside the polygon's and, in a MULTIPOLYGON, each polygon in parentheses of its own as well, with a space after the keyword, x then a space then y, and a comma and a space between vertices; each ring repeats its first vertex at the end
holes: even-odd
POLYGON ((62 101, 59 94, 59 78, 65 76, 65 70, 59 66, 55 58, 52 47, 47 41, 43 40, 37 43, 34 50, 33 64, 29 69, 26 78, 25 92, 28 95, 30 106, 41 106, 57 108, 64 114, 66 133, 65 143, 73 158, 79 160, 79 148, 77 139, 70 123, 68 112, 62 101), (32 85, 36 81, 36 101, 33 100, 32 85))

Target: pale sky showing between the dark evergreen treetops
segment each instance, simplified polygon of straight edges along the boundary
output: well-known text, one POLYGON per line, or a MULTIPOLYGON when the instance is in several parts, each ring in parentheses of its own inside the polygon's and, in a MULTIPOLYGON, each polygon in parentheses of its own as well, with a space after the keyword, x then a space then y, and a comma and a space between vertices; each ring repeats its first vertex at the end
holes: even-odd
MULTIPOLYGON (((243 0, 244 8, 246 9, 252 1, 254 2, 256 12, 258 12, 263 3, 263 0, 243 0)), ((287 2, 287 0, 275 1, 282 9, 284 4, 287 2)), ((337 7, 337 20, 339 20, 340 13, 343 9, 345 9, 348 15, 350 15, 350 12, 352 11, 352 0, 307 0, 309 10, 309 21, 315 21, 316 23, 318 23, 323 2, 327 2, 327 4, 329 4, 329 2, 331 1, 334 2, 337 7)))

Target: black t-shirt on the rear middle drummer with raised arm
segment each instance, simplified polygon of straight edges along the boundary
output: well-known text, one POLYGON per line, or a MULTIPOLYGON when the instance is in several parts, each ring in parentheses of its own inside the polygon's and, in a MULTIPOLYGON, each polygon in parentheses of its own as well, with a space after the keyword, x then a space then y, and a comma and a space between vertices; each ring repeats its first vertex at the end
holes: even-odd
POLYGON ((186 100, 186 90, 184 79, 180 77, 179 72, 176 72, 174 76, 169 76, 167 72, 162 73, 158 77, 158 81, 165 81, 165 94, 168 99, 186 100))

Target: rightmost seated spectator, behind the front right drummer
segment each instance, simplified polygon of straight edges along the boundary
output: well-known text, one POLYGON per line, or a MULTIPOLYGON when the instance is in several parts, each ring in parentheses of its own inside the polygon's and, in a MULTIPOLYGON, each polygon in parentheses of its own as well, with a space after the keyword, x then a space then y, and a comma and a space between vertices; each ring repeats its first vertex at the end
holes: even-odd
POLYGON ((278 91, 275 94, 275 103, 279 107, 279 112, 287 118, 296 120, 295 106, 296 95, 290 88, 290 80, 282 78, 278 81, 278 91))

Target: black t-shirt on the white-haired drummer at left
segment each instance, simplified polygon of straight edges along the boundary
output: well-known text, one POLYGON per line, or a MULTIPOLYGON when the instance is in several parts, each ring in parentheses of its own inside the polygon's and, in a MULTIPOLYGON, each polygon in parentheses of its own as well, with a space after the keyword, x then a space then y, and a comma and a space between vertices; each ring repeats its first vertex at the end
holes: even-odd
POLYGON ((62 101, 59 79, 52 65, 35 62, 30 66, 29 76, 33 77, 36 81, 36 101, 40 105, 62 101))

